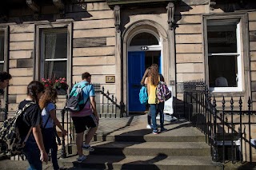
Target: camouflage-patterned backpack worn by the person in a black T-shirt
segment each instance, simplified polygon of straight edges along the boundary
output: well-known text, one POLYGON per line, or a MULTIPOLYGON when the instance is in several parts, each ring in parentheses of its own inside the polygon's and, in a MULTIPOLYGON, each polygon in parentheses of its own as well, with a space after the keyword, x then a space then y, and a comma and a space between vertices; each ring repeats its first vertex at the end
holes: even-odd
POLYGON ((22 140, 18 131, 18 121, 22 121, 23 112, 35 104, 34 102, 27 103, 23 109, 18 109, 14 117, 4 121, 0 128, 0 152, 6 156, 16 156, 22 153, 22 149, 26 144, 26 140, 30 136, 30 132, 26 135, 25 140, 22 140))

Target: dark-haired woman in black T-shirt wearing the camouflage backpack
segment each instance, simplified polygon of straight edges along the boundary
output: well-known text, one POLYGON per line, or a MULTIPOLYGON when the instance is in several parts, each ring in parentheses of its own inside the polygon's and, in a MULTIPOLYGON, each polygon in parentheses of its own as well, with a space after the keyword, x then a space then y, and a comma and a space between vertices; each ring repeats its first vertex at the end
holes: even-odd
POLYGON ((26 104, 33 102, 22 115, 22 119, 18 120, 18 130, 22 139, 30 132, 30 136, 26 140, 23 153, 28 160, 30 167, 28 169, 42 170, 42 161, 47 162, 48 155, 42 140, 41 132, 41 109, 38 100, 44 92, 44 86, 39 81, 31 81, 27 85, 27 97, 20 102, 18 109, 22 109, 26 104), (31 129, 32 128, 32 129, 31 129))

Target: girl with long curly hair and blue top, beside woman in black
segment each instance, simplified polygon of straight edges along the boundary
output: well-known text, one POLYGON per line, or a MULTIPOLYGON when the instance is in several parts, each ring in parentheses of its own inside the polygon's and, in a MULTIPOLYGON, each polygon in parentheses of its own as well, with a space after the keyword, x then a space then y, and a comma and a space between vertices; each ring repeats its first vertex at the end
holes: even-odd
POLYGON ((60 169, 57 160, 58 146, 56 143, 56 128, 58 126, 62 130, 62 134, 66 136, 66 130, 62 127, 56 117, 55 103, 58 99, 57 90, 47 87, 45 93, 39 100, 39 106, 42 109, 42 138, 45 144, 46 152, 51 153, 54 170, 60 169))

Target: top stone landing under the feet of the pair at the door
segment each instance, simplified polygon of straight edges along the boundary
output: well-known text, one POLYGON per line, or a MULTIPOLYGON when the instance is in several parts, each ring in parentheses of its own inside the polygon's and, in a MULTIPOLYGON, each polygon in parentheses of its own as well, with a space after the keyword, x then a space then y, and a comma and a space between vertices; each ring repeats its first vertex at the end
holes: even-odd
MULTIPOLYGON (((143 118, 146 117, 143 115, 143 118)), ((107 119, 106 119, 107 120, 107 119)), ((146 128, 146 120, 134 118, 131 122, 127 120, 113 119, 112 121, 101 120, 94 140, 98 141, 136 141, 136 142, 205 142, 206 136, 190 122, 185 120, 176 122, 165 122, 166 132, 158 135, 152 134, 151 129, 146 128), (117 122, 119 124, 117 124, 117 122)))

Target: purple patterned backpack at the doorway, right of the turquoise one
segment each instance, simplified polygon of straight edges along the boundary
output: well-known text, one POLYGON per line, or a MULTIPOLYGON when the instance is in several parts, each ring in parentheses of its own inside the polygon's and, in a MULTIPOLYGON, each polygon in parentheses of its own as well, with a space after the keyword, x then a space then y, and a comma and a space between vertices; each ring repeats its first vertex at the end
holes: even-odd
POLYGON ((167 101, 171 97, 171 91, 164 81, 159 81, 156 89, 156 99, 158 101, 167 101))

